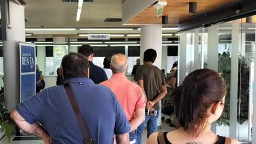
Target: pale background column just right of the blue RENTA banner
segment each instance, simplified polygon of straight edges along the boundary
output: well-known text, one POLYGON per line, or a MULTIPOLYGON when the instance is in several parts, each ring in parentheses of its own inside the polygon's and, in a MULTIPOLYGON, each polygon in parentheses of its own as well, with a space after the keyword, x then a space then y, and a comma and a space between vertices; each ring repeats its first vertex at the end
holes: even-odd
MULTIPOLYGON (((37 41, 44 42, 44 38, 38 38, 37 41)), ((42 74, 45 75, 46 70, 46 51, 45 46, 37 46, 37 64, 42 71, 42 74)))

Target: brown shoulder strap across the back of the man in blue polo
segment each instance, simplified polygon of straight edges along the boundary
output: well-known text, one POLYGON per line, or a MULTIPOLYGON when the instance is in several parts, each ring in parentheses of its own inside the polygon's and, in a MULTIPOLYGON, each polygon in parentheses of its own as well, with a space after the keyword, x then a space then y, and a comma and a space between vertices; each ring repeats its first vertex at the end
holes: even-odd
POLYGON ((81 129, 81 131, 83 133, 83 137, 84 137, 84 141, 83 142, 85 144, 88 144, 88 143, 93 144, 93 139, 90 137, 88 129, 87 129, 85 123, 83 122, 83 118, 82 118, 80 110, 78 108, 77 101, 76 101, 76 99, 74 97, 74 94, 73 94, 69 84, 65 83, 64 84, 64 88, 66 90, 66 93, 67 93, 68 99, 70 101, 70 104, 71 104, 71 106, 73 108, 73 111, 74 111, 74 113, 76 115, 79 127, 80 127, 80 129, 81 129))

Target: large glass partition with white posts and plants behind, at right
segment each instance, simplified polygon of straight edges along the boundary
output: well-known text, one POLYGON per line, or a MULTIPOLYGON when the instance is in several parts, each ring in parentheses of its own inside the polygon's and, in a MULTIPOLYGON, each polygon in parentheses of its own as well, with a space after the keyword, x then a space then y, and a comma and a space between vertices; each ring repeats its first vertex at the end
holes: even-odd
POLYGON ((210 68, 226 81, 225 111, 212 129, 219 135, 248 143, 253 129, 255 18, 186 31, 186 74, 198 68, 210 68), (200 67, 192 63, 200 63, 200 67))

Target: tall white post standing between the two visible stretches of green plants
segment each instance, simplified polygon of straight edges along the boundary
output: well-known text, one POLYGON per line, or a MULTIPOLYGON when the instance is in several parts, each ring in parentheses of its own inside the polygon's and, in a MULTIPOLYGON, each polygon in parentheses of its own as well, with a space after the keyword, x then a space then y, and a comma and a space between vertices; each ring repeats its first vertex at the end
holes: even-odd
POLYGON ((230 78, 230 138, 237 138, 237 86, 239 56, 239 19, 232 22, 232 51, 230 78))

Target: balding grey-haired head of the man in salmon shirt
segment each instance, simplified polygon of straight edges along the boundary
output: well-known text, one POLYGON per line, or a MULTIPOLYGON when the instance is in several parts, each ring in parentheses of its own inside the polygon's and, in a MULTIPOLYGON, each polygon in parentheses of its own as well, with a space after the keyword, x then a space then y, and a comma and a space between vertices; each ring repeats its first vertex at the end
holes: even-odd
POLYGON ((115 54, 111 58, 111 69, 113 73, 125 72, 128 66, 128 58, 124 54, 115 54))

